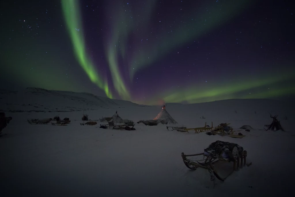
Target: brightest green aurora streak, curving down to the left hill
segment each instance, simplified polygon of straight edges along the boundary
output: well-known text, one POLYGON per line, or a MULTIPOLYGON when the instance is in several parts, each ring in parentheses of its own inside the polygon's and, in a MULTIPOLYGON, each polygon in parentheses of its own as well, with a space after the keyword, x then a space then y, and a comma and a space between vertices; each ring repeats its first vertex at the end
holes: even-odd
POLYGON ((73 43, 73 51, 77 61, 86 72, 91 82, 104 90, 106 96, 112 99, 112 93, 109 90, 107 80, 103 81, 86 53, 78 0, 62 0, 61 3, 63 15, 66 25, 68 26, 68 33, 73 43), (79 31, 76 29, 79 29, 79 31))

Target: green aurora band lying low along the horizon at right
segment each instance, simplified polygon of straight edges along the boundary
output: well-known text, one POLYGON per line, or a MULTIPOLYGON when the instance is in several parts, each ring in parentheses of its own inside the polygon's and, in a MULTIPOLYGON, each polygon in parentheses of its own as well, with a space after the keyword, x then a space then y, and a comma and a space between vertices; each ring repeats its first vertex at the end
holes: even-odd
MULTIPOLYGON (((215 85, 214 87, 202 86, 201 88, 171 89, 149 99, 145 104, 159 104, 159 100, 165 103, 200 103, 224 99, 263 99, 295 95, 293 83, 289 83, 289 86, 284 86, 283 88, 278 86, 278 83, 288 80, 294 80, 294 74, 292 72, 282 73, 275 78, 244 79, 242 81, 232 81, 219 86, 215 85), (265 88, 265 91, 258 91, 256 88, 265 88), (249 91, 249 93, 245 94, 245 91, 249 91), (242 96, 239 96, 238 93, 242 93, 242 96)), ((142 101, 134 102, 143 103, 142 101)))

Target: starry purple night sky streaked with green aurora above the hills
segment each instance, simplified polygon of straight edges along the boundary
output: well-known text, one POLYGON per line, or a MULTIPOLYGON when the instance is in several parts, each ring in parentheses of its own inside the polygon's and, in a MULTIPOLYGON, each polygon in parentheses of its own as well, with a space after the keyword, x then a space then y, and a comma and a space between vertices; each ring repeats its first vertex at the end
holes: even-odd
POLYGON ((295 95, 293 1, 2 0, 1 89, 140 104, 295 95))

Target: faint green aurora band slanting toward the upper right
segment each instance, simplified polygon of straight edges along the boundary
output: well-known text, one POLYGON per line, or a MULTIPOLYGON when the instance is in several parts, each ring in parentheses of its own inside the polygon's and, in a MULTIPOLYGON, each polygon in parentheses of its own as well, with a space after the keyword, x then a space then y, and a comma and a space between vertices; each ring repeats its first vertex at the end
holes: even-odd
POLYGON ((151 44, 150 47, 140 50, 138 53, 136 52, 129 69, 130 79, 132 80, 135 72, 150 66, 159 57, 163 57, 177 47, 183 46, 185 43, 198 39, 202 35, 205 35, 205 33, 208 33, 209 30, 217 28, 220 24, 229 21, 236 14, 240 13, 242 9, 249 6, 251 1, 220 1, 218 7, 213 4, 212 6, 206 6, 208 10, 205 12, 196 10, 196 14, 194 15, 188 13, 183 18, 194 20, 188 20, 183 26, 180 26, 168 35, 158 36, 157 42, 153 45, 151 44))

